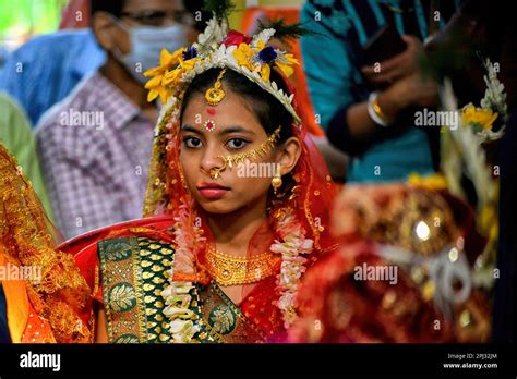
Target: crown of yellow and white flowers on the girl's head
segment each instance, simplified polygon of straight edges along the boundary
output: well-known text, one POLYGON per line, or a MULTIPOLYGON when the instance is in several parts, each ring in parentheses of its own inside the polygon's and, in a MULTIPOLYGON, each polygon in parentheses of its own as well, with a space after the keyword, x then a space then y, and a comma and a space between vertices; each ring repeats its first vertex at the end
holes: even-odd
POLYGON ((228 21, 214 16, 192 47, 172 53, 161 50, 159 66, 144 73, 144 76, 152 77, 145 85, 149 89, 147 100, 153 101, 159 96, 164 105, 177 105, 196 75, 214 68, 228 68, 272 94, 299 123, 300 118, 292 106, 294 95, 288 96, 270 81, 273 68, 289 77, 294 72, 293 65, 299 64, 293 54, 267 46, 275 33, 274 28, 265 28, 248 37, 236 30, 228 32, 228 21))

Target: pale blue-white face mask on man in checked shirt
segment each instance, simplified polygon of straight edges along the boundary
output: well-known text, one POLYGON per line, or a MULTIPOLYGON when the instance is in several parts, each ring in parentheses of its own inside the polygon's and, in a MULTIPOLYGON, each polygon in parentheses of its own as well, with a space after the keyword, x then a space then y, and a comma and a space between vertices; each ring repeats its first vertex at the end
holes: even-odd
POLYGON ((148 77, 145 77, 143 73, 159 65, 161 49, 172 52, 189 44, 187 27, 181 24, 128 27, 120 22, 118 23, 130 35, 131 51, 123 56, 119 49, 115 49, 113 54, 129 73, 142 84, 148 81, 148 77))

